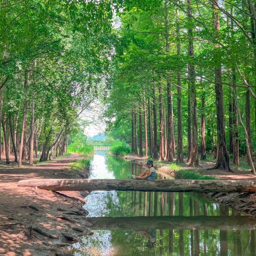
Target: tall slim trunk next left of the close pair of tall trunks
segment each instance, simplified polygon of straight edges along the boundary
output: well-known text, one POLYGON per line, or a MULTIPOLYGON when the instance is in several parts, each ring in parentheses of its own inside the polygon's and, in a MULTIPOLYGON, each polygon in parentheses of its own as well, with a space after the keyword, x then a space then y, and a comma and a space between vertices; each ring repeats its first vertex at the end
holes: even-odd
MULTIPOLYGON (((180 33, 180 13, 176 10, 176 30, 180 33)), ((177 37, 177 54, 181 54, 180 37, 177 37)), ((181 95, 181 72, 177 74, 177 159, 178 163, 183 163, 183 142, 182 142, 182 95, 181 95)))

